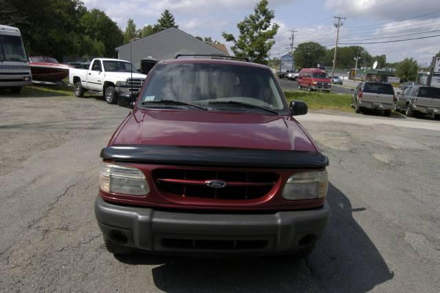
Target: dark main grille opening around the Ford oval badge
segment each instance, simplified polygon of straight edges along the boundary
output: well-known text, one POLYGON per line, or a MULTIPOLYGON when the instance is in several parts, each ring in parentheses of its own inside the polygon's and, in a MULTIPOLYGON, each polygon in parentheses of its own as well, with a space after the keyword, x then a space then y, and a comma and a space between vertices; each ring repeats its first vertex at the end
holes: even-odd
POLYGON ((153 178, 159 191, 184 197, 208 199, 256 199, 264 197, 278 181, 278 174, 268 172, 212 171, 192 169, 157 169, 153 178), (208 182, 225 183, 221 188, 208 182))

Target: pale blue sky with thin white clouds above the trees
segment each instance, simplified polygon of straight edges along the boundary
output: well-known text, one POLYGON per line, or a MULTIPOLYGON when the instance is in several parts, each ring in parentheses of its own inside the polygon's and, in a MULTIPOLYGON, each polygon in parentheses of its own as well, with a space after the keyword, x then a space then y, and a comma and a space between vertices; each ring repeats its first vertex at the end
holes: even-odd
MULTIPOLYGON (((99 8, 122 29, 134 19, 137 27, 154 24, 170 10, 181 30, 195 36, 211 36, 224 42, 221 32, 237 34, 236 23, 253 12, 258 0, 83 0, 87 8, 99 8)), ((333 16, 347 17, 341 43, 364 43, 440 35, 440 0, 269 0, 280 25, 273 56, 289 48, 292 28, 295 47, 305 41, 334 44, 333 16)), ((440 51, 440 36, 405 42, 362 44, 371 55, 386 54, 388 62, 405 57, 430 63, 440 51)))

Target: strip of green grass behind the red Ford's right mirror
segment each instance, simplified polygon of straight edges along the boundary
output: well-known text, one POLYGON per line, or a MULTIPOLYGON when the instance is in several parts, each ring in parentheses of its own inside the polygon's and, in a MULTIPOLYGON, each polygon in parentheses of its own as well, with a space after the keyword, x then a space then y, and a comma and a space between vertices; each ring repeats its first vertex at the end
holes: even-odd
POLYGON ((351 95, 349 94, 327 94, 318 91, 309 93, 309 91, 285 91, 285 96, 291 100, 302 100, 307 102, 310 110, 340 110, 352 111, 351 95))

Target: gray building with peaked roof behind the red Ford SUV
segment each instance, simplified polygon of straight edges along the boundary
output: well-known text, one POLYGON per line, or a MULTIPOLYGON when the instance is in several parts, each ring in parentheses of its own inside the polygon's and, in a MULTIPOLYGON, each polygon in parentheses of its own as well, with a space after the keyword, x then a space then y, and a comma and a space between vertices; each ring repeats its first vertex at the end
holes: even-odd
POLYGON ((144 58, 153 58, 157 61, 173 59, 177 54, 221 54, 225 52, 196 39, 177 28, 168 28, 138 39, 115 49, 118 58, 130 61, 135 67, 140 68, 140 61, 144 58), (131 54, 130 54, 131 47, 131 54), (130 58, 131 55, 131 58, 130 58))

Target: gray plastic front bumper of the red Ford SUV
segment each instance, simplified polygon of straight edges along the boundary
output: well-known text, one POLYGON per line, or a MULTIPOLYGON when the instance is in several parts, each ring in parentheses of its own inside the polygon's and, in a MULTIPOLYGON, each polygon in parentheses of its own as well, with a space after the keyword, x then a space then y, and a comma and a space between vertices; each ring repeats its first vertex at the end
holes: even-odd
POLYGON ((95 215, 105 236, 122 232, 123 246, 155 252, 283 254, 314 246, 329 220, 327 202, 314 210, 274 213, 165 211, 105 202, 95 215))

